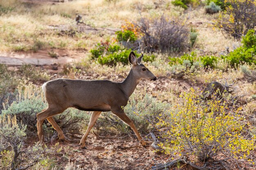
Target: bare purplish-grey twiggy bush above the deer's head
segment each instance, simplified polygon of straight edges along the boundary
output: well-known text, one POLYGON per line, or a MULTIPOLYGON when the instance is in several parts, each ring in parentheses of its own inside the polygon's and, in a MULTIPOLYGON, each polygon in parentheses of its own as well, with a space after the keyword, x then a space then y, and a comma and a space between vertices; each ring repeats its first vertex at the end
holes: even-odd
POLYGON ((141 18, 137 22, 141 33, 140 48, 147 52, 183 51, 189 46, 189 30, 181 22, 160 18, 141 18))

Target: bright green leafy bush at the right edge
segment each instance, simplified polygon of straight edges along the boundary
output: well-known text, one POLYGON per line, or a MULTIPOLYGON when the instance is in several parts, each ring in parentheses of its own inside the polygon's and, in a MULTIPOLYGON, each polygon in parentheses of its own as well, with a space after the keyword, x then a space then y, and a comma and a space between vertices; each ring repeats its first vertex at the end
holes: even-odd
POLYGON ((249 30, 243 37, 243 46, 238 47, 227 56, 222 56, 222 58, 227 58, 233 67, 245 63, 256 64, 256 35, 254 32, 254 30, 249 30))

